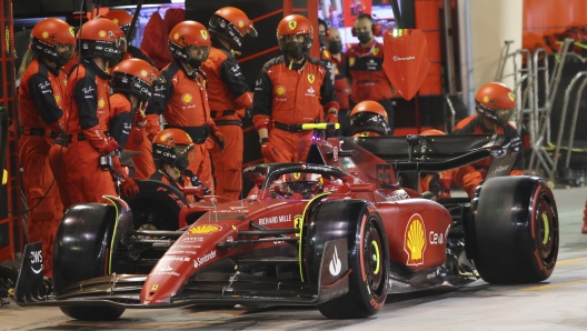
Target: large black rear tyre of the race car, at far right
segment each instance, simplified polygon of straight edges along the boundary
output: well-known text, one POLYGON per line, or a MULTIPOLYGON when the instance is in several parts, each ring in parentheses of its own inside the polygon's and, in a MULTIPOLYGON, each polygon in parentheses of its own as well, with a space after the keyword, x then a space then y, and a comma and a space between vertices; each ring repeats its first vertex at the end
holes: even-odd
POLYGON ((486 282, 534 283, 550 277, 559 228, 555 198, 544 179, 489 179, 476 190, 471 211, 474 261, 486 282))

